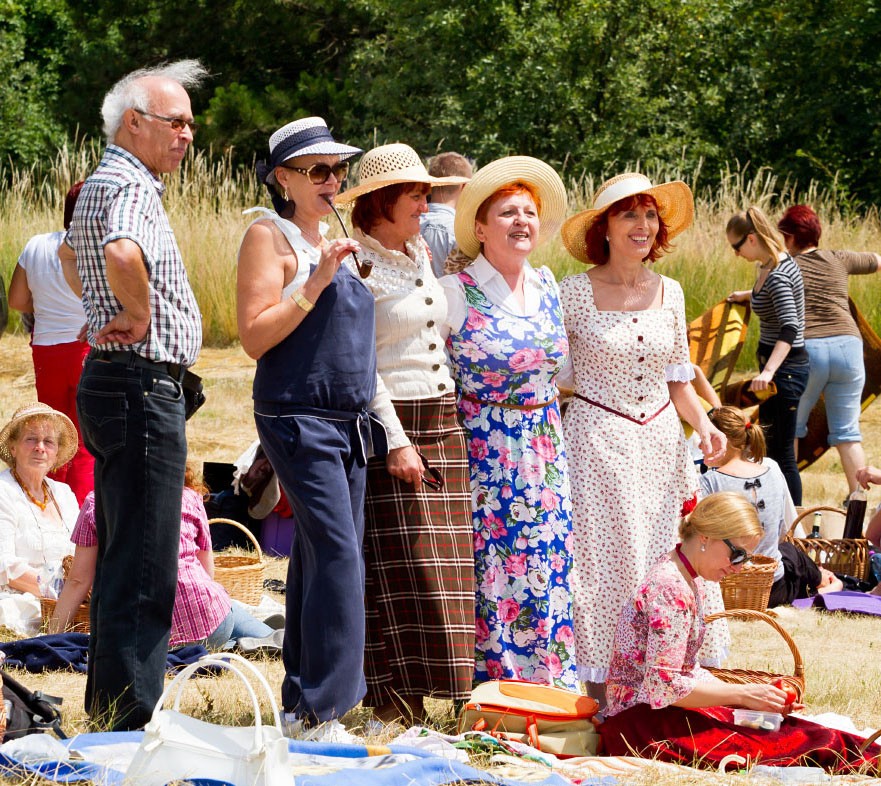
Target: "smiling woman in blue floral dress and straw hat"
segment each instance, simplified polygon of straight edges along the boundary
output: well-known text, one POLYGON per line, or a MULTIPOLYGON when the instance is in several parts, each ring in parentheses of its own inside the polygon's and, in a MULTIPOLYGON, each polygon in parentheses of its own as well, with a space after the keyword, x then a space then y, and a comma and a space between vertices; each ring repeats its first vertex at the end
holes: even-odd
POLYGON ((576 684, 555 381, 568 344, 554 276, 528 259, 565 212, 563 183, 544 162, 487 164, 456 207, 456 242, 474 261, 441 279, 471 464, 478 681, 576 684))

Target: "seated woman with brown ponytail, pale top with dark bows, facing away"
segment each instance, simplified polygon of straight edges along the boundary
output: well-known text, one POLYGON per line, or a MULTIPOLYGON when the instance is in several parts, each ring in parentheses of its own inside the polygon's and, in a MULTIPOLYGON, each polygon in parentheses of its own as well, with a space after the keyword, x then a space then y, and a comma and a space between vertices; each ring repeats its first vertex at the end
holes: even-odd
POLYGON ((795 520, 795 506, 780 466, 765 455, 762 427, 735 407, 713 410, 710 421, 728 438, 728 448, 721 459, 705 460, 710 470, 701 476, 701 491, 738 491, 755 506, 763 529, 756 554, 777 560, 768 606, 792 603, 812 590, 840 590, 841 581, 833 573, 782 542, 795 520))

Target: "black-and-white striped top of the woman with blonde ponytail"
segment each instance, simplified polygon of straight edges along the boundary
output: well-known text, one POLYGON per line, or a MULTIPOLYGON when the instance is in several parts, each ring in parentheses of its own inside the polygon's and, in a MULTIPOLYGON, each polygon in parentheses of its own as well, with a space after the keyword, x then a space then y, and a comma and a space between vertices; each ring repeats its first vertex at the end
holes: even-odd
POLYGON ((760 320, 759 344, 773 347, 785 341, 793 349, 804 347, 805 290, 791 256, 768 274, 760 290, 753 289, 750 306, 760 320))

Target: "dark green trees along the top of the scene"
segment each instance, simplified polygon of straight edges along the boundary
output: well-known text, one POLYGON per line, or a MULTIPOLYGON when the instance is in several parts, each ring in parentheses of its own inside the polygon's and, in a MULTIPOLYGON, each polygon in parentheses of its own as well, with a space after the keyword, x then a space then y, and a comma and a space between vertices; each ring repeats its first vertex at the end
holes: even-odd
POLYGON ((249 165, 318 114, 362 147, 768 166, 859 209, 877 166, 881 0, 0 0, 0 159, 99 134, 127 71, 198 57, 197 146, 249 165))

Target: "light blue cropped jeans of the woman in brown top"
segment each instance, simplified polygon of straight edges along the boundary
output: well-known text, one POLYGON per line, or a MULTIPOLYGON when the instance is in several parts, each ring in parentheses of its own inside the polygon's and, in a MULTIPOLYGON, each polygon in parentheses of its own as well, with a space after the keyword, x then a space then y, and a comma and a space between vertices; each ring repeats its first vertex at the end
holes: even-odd
POLYGON ((860 399, 866 383, 863 340, 858 336, 828 336, 805 339, 811 358, 808 385, 798 403, 795 435, 808 433, 808 417, 823 395, 829 444, 860 442, 860 399))

